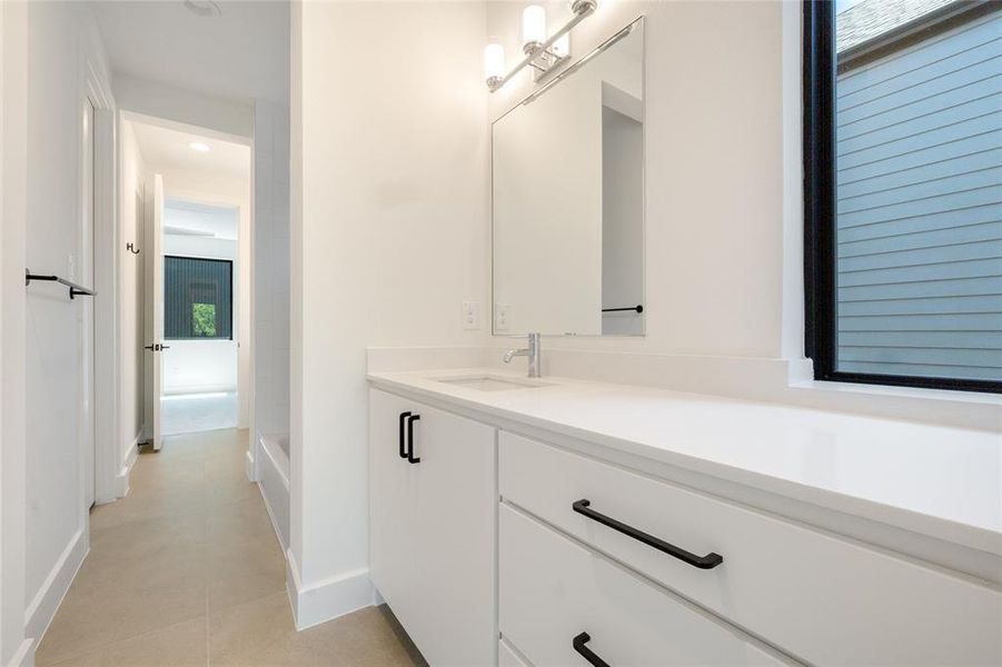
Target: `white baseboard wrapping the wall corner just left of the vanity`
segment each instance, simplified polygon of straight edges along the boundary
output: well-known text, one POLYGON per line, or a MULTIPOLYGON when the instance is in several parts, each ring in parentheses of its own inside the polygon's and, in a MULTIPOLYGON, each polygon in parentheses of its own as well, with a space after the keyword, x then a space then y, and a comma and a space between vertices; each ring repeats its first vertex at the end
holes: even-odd
POLYGON ((345 573, 306 587, 299 580, 298 569, 291 550, 287 549, 286 587, 297 630, 373 606, 374 588, 368 568, 345 573))

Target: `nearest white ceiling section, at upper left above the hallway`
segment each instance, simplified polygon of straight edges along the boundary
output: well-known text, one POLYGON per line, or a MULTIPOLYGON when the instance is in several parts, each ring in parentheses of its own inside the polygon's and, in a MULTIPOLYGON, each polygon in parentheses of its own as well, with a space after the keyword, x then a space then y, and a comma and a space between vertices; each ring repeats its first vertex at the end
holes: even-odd
POLYGON ((182 0, 91 2, 113 71, 218 97, 288 104, 289 3, 215 4, 221 16, 199 16, 182 0))

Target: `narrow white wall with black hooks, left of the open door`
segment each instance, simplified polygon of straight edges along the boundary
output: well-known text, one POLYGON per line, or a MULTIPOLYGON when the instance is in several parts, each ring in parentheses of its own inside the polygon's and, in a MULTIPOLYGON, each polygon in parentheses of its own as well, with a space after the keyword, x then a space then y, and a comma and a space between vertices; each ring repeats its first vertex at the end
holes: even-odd
POLYGON ((119 170, 119 219, 121 220, 121 243, 133 243, 139 255, 125 251, 120 265, 121 273, 121 442, 118 462, 121 468, 129 466, 131 450, 143 429, 143 286, 145 266, 151 248, 145 236, 146 211, 146 166, 136 141, 132 123, 119 122, 120 170, 119 170), (138 201, 137 201, 138 200, 138 201), (138 208, 137 208, 138 207, 138 208))

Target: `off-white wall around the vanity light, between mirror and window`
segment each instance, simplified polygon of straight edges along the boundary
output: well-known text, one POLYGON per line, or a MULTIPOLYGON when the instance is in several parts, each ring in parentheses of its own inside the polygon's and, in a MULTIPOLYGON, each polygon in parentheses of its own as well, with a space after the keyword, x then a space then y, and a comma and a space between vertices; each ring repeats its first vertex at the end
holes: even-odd
MULTIPOLYGON (((553 24, 562 6, 547 6, 553 24)), ((518 52, 520 7, 489 7, 487 33, 509 54, 518 52)), ((577 59, 647 16, 647 336, 550 347, 780 356, 782 12, 771 1, 605 2, 574 29, 577 59)), ((532 88, 526 73, 489 96, 489 118, 532 88)))

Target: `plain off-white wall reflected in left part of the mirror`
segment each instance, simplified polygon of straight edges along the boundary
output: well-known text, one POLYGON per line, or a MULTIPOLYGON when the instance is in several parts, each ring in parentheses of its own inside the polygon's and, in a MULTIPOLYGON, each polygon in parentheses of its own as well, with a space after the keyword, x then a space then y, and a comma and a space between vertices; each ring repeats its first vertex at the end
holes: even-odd
POLYGON ((584 69, 494 125, 498 332, 602 330, 601 91, 584 69))

